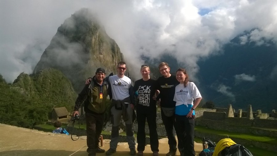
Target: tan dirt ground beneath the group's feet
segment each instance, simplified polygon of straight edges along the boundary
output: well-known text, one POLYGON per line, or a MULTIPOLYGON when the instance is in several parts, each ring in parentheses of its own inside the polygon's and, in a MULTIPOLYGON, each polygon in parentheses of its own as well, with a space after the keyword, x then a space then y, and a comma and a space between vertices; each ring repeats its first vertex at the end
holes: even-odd
MULTIPOLYGON (((75 137, 76 139, 76 137, 75 137)), ((165 156, 169 151, 168 139, 159 140, 159 155, 165 156)), ((104 139, 102 149, 109 149, 110 140, 104 139)), ((38 130, 0 124, 0 155, 1 156, 86 156, 86 136, 72 141, 70 135, 54 134, 38 130)), ((130 155, 126 142, 118 143, 117 152, 113 156, 130 155)), ((196 155, 203 150, 202 144, 195 143, 196 155)), ((104 156, 105 153, 97 153, 104 156)), ((177 155, 180 155, 177 152, 177 155)), ((144 156, 152 156, 150 145, 147 145, 144 156)))

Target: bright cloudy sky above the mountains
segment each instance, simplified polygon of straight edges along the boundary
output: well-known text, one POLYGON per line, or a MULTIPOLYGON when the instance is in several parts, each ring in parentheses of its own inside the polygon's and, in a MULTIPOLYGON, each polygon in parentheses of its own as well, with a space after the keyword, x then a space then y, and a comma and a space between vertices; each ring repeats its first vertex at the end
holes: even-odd
POLYGON ((218 53, 244 31, 249 33, 241 44, 277 42, 272 0, 2 0, 0 6, 0 74, 8 82, 21 72, 30 74, 57 28, 83 7, 98 16, 137 77, 142 54, 171 53, 193 78, 199 58, 218 53))

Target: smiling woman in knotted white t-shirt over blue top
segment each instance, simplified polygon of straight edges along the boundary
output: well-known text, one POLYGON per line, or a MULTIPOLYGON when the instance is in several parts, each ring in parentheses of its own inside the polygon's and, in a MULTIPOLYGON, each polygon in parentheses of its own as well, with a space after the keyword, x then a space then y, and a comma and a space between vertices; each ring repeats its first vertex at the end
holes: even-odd
MULTIPOLYGON (((194 126, 195 126, 195 108, 198 106, 202 97, 193 82, 189 82, 187 71, 179 68, 176 72, 176 79, 180 82, 175 88, 174 101, 175 118, 179 136, 182 138, 183 149, 179 149, 181 156, 195 156, 194 150, 194 126), (195 99, 195 102, 193 102, 195 99)), ((178 134, 177 134, 178 135, 178 134)))

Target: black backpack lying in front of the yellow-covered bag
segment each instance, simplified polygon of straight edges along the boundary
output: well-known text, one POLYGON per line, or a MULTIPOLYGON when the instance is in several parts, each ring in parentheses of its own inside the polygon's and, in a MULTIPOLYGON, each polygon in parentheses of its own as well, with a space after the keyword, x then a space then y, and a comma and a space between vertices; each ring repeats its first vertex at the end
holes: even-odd
POLYGON ((221 156, 253 156, 253 155, 244 146, 239 144, 234 144, 222 150, 221 156))

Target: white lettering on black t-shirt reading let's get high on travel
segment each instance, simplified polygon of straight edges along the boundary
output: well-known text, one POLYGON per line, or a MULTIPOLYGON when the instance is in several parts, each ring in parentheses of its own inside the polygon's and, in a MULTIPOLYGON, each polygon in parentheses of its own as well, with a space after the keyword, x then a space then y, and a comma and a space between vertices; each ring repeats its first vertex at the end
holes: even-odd
POLYGON ((143 106, 149 106, 151 94, 150 87, 151 86, 139 86, 139 104, 142 104, 143 106))

